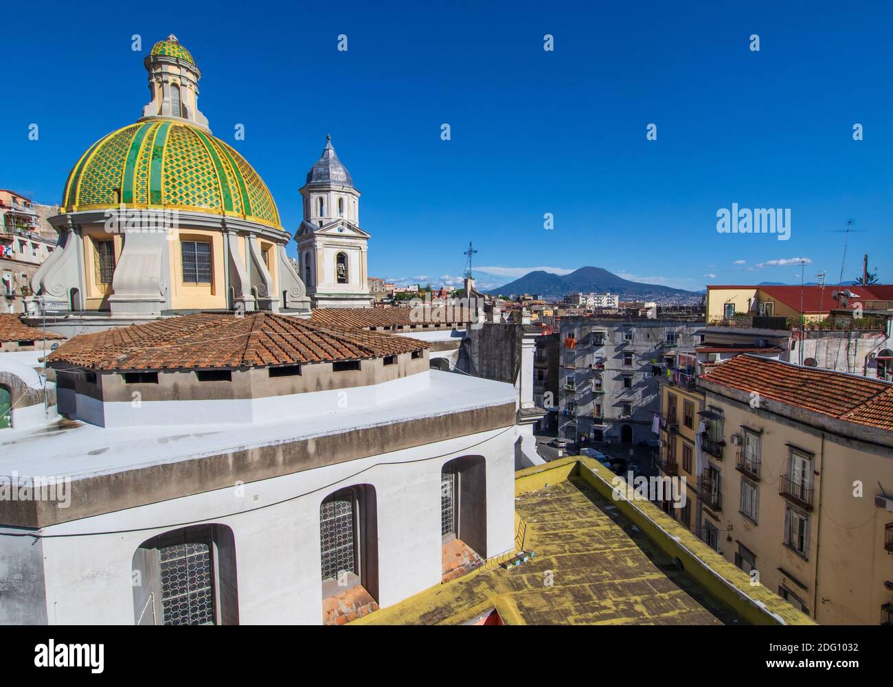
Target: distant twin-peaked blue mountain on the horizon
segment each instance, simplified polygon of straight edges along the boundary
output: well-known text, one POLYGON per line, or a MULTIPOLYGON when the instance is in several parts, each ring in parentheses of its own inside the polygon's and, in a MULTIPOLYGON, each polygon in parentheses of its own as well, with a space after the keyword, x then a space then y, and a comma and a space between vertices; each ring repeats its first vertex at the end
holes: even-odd
POLYGON ((595 292, 604 294, 611 292, 625 298, 643 298, 655 295, 697 296, 692 291, 675 289, 658 284, 642 284, 618 277, 607 269, 600 267, 581 267, 570 274, 560 277, 550 272, 536 270, 529 272, 513 282, 492 289, 489 294, 542 294, 549 297, 561 297, 567 294, 584 294, 595 292))

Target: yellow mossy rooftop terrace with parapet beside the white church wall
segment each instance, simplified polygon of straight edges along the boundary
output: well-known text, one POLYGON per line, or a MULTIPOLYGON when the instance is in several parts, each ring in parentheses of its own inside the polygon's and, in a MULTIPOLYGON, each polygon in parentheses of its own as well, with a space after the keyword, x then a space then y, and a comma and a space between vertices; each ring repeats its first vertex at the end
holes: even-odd
POLYGON ((515 473, 516 567, 491 559, 351 625, 814 625, 614 474, 571 457, 515 473))

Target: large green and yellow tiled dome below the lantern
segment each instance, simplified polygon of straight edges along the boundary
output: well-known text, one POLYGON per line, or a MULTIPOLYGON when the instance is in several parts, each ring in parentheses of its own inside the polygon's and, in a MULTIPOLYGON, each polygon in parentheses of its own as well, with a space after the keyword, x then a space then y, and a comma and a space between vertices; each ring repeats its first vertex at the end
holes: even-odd
POLYGON ((65 182, 63 212, 121 205, 206 212, 281 228, 270 190, 245 158, 180 121, 131 124, 81 155, 65 182))

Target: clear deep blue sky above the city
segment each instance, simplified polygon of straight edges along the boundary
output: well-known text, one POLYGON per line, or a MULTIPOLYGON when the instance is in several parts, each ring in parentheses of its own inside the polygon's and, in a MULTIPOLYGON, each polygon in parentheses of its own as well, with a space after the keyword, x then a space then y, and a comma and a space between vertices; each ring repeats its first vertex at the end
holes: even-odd
POLYGON ((893 281, 893 5, 739 5, 41 3, 4 32, 0 187, 58 202, 79 154, 138 118, 142 58, 173 32, 214 134, 291 231, 331 132, 374 276, 449 281, 471 240, 485 286, 584 265, 692 290, 794 283, 793 258, 836 281, 853 219, 844 278, 868 252, 893 281), (789 208, 790 239, 718 234, 732 203, 789 208))

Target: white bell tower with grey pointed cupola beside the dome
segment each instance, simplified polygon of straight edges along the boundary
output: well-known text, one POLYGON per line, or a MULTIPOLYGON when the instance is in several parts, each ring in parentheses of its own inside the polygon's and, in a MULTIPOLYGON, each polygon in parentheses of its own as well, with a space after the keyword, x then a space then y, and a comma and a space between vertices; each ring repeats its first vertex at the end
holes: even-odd
POLYGON ((366 266, 369 234, 360 228, 360 192, 331 137, 300 189, 304 221, 295 235, 300 277, 314 308, 372 304, 366 266))

